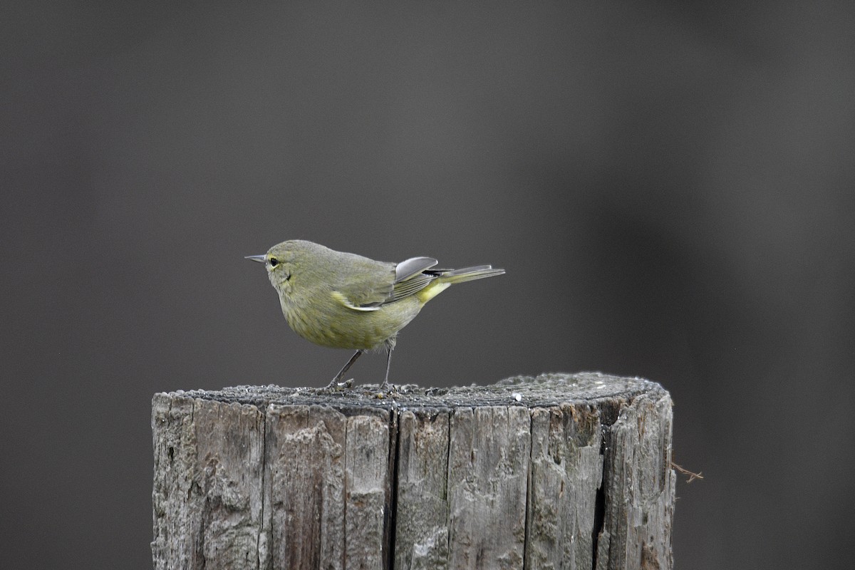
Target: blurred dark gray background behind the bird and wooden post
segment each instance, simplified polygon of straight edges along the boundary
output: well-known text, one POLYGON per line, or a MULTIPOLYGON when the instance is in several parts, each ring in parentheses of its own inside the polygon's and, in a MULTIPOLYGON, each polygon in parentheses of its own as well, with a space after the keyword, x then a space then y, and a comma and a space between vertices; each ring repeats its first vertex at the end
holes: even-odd
MULTIPOLYGON (((392 380, 640 375, 681 568, 855 556, 852 3, 17 3, 0 19, 3 567, 147 568, 150 398, 325 385, 288 238, 492 263, 392 380)), ((382 356, 352 369, 376 382, 382 356)))

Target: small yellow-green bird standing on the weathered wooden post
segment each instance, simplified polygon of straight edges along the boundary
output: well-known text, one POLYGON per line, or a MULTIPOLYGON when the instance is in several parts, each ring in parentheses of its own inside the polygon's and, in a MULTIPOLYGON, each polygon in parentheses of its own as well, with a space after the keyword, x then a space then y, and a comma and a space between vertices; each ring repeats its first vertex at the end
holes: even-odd
POLYGON ((400 263, 374 261, 294 239, 262 256, 246 256, 267 267, 282 313, 298 335, 321 346, 356 353, 327 388, 337 385, 366 350, 386 349, 386 379, 395 338, 425 303, 449 285, 501 275, 489 265, 435 269, 432 257, 400 263))

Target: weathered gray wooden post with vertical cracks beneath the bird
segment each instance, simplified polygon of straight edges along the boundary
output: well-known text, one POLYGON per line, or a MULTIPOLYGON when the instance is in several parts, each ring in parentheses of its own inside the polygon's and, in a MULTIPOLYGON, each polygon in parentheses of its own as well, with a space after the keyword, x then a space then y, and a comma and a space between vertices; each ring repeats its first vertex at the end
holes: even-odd
POLYGON ((370 388, 156 394, 155 568, 673 566, 662 386, 370 388))

